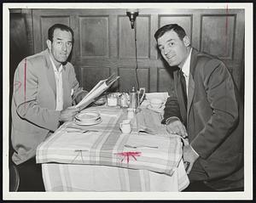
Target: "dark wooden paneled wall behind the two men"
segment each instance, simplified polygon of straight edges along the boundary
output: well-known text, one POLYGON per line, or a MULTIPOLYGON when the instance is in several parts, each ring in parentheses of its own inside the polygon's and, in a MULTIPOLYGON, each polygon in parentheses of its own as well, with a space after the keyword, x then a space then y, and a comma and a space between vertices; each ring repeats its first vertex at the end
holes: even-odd
POLYGON ((129 91, 136 82, 135 34, 140 87, 147 92, 172 93, 172 68, 161 59, 154 32, 162 25, 182 25, 192 46, 218 55, 243 94, 243 9, 140 9, 137 30, 131 29, 125 9, 32 9, 34 53, 46 48, 50 25, 62 23, 74 31, 72 63, 79 82, 90 90, 116 72, 113 90, 129 91))

